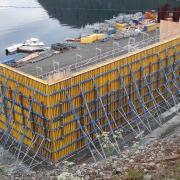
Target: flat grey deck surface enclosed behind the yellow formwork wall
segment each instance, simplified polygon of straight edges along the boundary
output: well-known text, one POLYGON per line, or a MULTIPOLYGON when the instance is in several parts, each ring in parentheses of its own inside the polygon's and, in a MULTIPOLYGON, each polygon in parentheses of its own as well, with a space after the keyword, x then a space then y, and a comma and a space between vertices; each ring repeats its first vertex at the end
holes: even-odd
MULTIPOLYGON (((135 42, 141 42, 141 47, 139 48, 142 48, 143 46, 158 42, 158 37, 159 30, 141 34, 133 39, 135 42), (151 39, 149 44, 145 41, 146 39, 151 39), (142 43, 143 41, 145 42, 144 44, 142 43)), ((66 69, 69 66, 73 66, 73 64, 76 66, 76 63, 78 65, 80 62, 91 60, 97 55, 100 58, 103 54, 107 54, 107 52, 112 52, 113 50, 116 52, 119 51, 119 54, 116 54, 116 56, 126 54, 128 49, 126 48, 125 50, 125 47, 127 47, 128 43, 129 38, 122 38, 116 41, 110 39, 107 42, 96 42, 87 45, 76 43, 78 44, 76 49, 67 50, 58 54, 47 52, 47 57, 43 57, 42 55, 41 60, 40 57, 33 58, 33 61, 30 61, 17 69, 33 76, 46 75, 48 72, 51 73, 54 71, 54 69, 66 69)), ((87 66, 85 66, 85 68, 87 68, 87 66)))

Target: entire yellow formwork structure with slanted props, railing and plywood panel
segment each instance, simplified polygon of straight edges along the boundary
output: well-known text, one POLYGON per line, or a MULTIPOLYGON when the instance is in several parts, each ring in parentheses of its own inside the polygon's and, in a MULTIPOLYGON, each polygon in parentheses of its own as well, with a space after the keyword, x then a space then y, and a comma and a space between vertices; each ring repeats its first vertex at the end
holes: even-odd
POLYGON ((105 142, 120 153, 124 141, 167 122, 164 112, 179 116, 180 24, 159 27, 93 58, 55 62, 51 72, 0 64, 0 141, 16 168, 81 154, 97 162, 108 156, 105 142))

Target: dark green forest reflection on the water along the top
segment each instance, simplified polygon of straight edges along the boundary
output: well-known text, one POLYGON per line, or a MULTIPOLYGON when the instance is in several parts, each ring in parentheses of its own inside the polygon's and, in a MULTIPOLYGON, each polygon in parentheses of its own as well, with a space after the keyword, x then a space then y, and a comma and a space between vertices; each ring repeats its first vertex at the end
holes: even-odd
POLYGON ((118 13, 130 10, 157 9, 164 3, 179 6, 171 0, 38 0, 52 18, 62 24, 81 27, 88 23, 103 22, 118 13), (93 9, 93 10, 92 10, 93 9), (100 10, 101 9, 101 10, 100 10))

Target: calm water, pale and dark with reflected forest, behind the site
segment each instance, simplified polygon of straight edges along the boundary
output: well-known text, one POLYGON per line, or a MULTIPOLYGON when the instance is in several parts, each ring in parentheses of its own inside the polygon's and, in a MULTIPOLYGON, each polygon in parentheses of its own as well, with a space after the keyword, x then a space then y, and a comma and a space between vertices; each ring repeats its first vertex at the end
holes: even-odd
POLYGON ((122 11, 157 9, 163 3, 180 5, 176 0, 0 0, 0 61, 13 43, 37 37, 49 45, 78 36, 87 23, 122 11))

